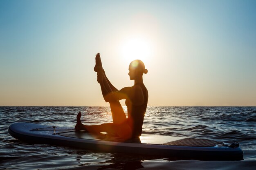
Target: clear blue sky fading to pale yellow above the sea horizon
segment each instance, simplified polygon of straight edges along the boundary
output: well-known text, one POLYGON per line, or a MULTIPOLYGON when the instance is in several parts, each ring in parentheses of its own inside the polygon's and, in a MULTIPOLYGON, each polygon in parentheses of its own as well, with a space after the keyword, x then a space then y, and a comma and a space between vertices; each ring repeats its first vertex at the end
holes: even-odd
MULTIPOLYGON (((255 0, 0 0, 0 106, 108 106, 93 71, 148 106, 256 106, 255 0)), ((124 101, 121 101, 124 105, 124 101)))

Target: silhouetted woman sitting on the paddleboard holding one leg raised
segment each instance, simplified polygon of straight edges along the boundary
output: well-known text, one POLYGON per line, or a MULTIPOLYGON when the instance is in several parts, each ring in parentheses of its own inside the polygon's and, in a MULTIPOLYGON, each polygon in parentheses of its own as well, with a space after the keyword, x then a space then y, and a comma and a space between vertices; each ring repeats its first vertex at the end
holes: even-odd
POLYGON ((81 123, 81 113, 79 112, 76 116, 75 130, 86 130, 93 134, 107 132, 117 135, 124 141, 138 138, 142 132, 142 124, 148 104, 148 90, 143 84, 142 75, 148 73, 148 70, 145 69, 141 60, 132 61, 129 65, 128 75, 131 80, 134 80, 134 86, 125 87, 118 91, 106 77, 99 53, 96 55, 95 60, 94 71, 97 72, 97 81, 101 86, 103 98, 110 104, 113 123, 84 125, 81 123), (126 99, 127 118, 119 102, 121 99, 126 99))

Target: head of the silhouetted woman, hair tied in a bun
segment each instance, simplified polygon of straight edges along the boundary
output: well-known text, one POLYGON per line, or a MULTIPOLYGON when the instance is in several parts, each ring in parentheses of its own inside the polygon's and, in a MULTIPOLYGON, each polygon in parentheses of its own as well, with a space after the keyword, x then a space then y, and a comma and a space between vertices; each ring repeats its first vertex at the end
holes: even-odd
POLYGON ((145 65, 141 60, 134 60, 129 65, 129 73, 130 79, 135 79, 137 76, 142 76, 148 73, 148 70, 145 69, 145 65))

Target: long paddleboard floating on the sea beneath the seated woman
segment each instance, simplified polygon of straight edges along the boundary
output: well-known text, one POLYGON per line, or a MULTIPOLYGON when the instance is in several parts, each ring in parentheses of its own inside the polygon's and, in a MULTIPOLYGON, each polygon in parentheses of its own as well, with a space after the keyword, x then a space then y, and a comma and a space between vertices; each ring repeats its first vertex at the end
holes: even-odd
POLYGON ((142 134, 137 140, 121 141, 109 134, 92 135, 73 128, 32 123, 14 123, 9 134, 30 143, 54 144, 142 155, 180 157, 184 159, 242 160, 243 150, 237 142, 226 144, 209 139, 142 134))

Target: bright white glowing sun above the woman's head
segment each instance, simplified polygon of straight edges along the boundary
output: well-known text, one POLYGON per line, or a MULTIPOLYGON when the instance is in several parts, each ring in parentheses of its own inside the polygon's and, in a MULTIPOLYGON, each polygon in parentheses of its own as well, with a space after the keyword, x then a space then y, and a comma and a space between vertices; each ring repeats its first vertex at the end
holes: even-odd
POLYGON ((152 56, 153 50, 150 41, 142 37, 127 38, 121 44, 121 56, 125 61, 141 60, 147 62, 152 56))

